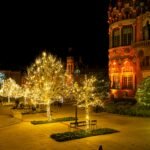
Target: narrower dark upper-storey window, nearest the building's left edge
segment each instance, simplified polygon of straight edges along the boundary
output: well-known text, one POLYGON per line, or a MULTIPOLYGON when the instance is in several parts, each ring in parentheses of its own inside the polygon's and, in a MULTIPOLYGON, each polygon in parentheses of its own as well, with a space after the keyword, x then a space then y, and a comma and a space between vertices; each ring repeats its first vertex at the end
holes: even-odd
POLYGON ((120 31, 118 28, 113 30, 113 47, 120 45, 120 31))

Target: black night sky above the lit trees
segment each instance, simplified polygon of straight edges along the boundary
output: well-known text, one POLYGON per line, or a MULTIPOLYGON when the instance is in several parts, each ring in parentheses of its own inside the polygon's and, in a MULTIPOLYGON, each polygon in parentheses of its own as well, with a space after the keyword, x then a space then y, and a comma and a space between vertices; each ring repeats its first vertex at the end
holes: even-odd
POLYGON ((0 63, 29 65, 43 49, 62 57, 72 47, 90 66, 107 66, 109 0, 4 6, 0 63), (105 2, 104 2, 105 1, 105 2), (6 7, 6 8, 5 8, 6 7))

